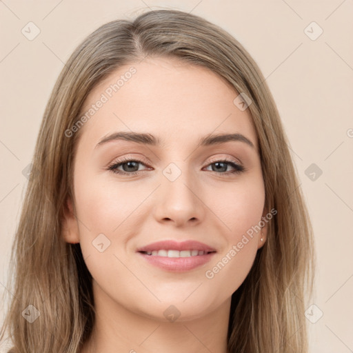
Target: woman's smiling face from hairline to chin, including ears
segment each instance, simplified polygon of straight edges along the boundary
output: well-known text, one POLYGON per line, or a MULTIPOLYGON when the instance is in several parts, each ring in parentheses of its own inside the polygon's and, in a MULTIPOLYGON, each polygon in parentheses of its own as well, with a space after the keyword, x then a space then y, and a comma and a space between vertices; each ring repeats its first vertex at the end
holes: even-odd
POLYGON ((265 243, 252 228, 265 215, 259 146, 237 96, 210 70, 161 58, 92 90, 63 234, 81 244, 96 302, 163 321, 230 303, 265 243))

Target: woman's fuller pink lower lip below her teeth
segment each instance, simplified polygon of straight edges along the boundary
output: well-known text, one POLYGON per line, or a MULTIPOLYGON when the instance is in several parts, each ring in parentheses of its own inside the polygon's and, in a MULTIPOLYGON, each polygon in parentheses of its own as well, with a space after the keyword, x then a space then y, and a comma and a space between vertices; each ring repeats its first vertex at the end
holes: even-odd
POLYGON ((148 261, 162 270, 171 272, 185 272, 205 265, 205 263, 208 263, 216 252, 189 257, 152 256, 143 254, 142 252, 138 252, 138 254, 143 256, 145 261, 148 261))

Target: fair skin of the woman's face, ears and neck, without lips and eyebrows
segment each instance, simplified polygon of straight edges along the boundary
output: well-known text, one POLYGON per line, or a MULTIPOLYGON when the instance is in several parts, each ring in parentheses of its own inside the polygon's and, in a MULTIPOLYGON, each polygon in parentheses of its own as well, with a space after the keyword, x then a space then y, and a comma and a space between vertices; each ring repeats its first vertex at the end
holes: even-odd
POLYGON ((266 226, 263 241, 255 232, 212 279, 205 272, 229 257, 266 213, 250 112, 234 105, 238 94, 214 72, 170 58, 119 68, 90 92, 83 111, 131 66, 137 72, 81 128, 74 200, 68 200, 63 220, 65 241, 81 244, 93 277, 96 323, 81 352, 226 353, 231 296, 265 243, 266 226), (118 139, 97 145, 115 132, 152 134, 162 145, 118 139), (230 133, 254 146, 198 145, 205 135, 230 133), (137 174, 108 169, 123 157, 139 163, 125 161, 116 169, 137 174), (230 162, 215 168, 224 159, 230 162), (245 171, 232 173, 231 162, 245 171), (177 179, 166 177, 178 170, 177 179), (100 243, 110 241, 103 252, 92 245, 99 234, 106 237, 100 243), (165 239, 201 241, 216 252, 208 263, 183 272, 159 268, 137 253, 165 239), (163 314, 170 305, 177 308, 169 309, 172 314, 180 314, 173 322, 163 314))

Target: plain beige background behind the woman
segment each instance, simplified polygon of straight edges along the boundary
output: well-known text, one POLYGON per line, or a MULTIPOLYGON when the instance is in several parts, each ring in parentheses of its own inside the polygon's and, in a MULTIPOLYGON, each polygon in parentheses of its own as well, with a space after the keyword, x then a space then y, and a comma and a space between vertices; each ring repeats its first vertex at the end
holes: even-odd
MULTIPOLYGON (((23 170, 63 63, 101 24, 132 19, 148 8, 205 17, 228 30, 259 64, 290 139, 314 225, 317 307, 308 317, 317 319, 319 310, 323 316, 308 321, 310 350, 353 352, 352 0, 0 1, 0 290, 26 187, 23 170), (30 21, 41 31, 32 41, 21 33, 30 21), (319 33, 312 21, 323 30, 315 40, 307 36, 319 33), (312 163, 323 172, 314 181, 305 174, 312 163)), ((3 305, 0 312, 3 318, 3 305)))

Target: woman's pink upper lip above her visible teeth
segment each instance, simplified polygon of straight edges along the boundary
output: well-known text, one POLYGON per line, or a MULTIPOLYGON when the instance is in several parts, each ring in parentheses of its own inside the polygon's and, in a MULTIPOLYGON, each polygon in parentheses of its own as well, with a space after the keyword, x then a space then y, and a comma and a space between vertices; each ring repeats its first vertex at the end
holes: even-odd
POLYGON ((200 243, 199 241, 188 240, 188 241, 173 241, 164 240, 157 241, 156 243, 150 243, 137 249, 137 252, 150 252, 154 250, 199 250, 205 252, 215 252, 216 250, 210 245, 200 243))

